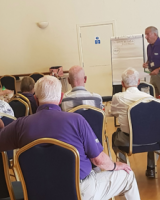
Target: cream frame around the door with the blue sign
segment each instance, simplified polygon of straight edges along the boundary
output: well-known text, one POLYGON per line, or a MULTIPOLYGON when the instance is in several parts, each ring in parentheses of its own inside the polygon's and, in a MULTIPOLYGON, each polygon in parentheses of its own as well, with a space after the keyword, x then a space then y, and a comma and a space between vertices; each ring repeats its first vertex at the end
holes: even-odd
POLYGON ((79 62, 82 67, 84 67, 84 59, 83 59, 83 50, 82 50, 82 37, 81 37, 81 28, 82 27, 91 27, 91 26, 100 26, 100 25, 111 25, 113 31, 113 37, 116 37, 116 28, 115 28, 115 20, 106 21, 106 22, 97 22, 90 24, 77 24, 77 40, 78 40, 78 52, 79 52, 79 62))

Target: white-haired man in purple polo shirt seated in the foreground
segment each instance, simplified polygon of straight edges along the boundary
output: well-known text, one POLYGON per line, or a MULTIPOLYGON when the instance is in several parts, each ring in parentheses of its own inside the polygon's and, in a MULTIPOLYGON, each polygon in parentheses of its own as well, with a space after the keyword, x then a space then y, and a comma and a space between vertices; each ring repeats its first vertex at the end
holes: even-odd
POLYGON ((118 194, 124 194, 128 200, 139 200, 136 179, 130 167, 125 163, 114 163, 103 152, 103 147, 81 115, 61 111, 58 106, 60 81, 53 76, 44 76, 35 84, 35 95, 39 107, 34 115, 19 118, 6 127, 0 120, 0 151, 21 148, 44 137, 66 142, 73 145, 80 155, 82 200, 107 200, 118 194), (105 171, 95 172, 91 162, 105 171))

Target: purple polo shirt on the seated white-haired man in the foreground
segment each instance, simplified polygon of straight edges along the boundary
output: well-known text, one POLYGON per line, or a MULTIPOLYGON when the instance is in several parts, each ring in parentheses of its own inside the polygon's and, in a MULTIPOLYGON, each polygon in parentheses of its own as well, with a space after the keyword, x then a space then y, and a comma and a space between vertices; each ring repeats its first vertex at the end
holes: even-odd
POLYGON ((54 138, 73 145, 80 154, 80 179, 89 175, 92 169, 89 158, 95 158, 103 151, 81 115, 62 112, 54 104, 39 106, 35 114, 0 129, 0 151, 21 148, 39 138, 54 138))

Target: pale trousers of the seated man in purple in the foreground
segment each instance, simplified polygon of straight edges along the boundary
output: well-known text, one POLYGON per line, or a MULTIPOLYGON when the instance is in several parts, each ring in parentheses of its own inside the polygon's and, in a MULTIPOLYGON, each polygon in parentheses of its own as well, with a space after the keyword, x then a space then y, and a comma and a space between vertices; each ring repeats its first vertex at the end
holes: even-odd
POLYGON ((107 200, 124 195, 127 200, 139 200, 139 191, 133 171, 91 171, 80 183, 82 200, 107 200))

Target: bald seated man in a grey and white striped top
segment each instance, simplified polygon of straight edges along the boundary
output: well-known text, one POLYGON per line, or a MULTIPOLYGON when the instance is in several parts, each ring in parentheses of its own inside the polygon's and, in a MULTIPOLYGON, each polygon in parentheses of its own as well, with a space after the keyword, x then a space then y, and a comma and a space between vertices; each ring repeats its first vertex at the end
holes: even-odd
POLYGON ((69 111, 79 105, 90 105, 102 109, 102 98, 99 94, 88 92, 85 89, 87 77, 80 66, 73 66, 69 70, 68 82, 72 90, 65 93, 62 99, 61 108, 69 111))

